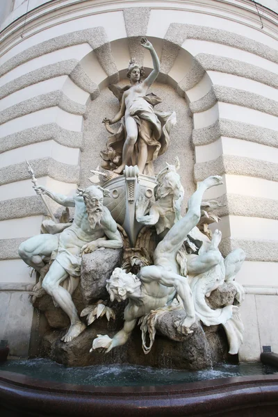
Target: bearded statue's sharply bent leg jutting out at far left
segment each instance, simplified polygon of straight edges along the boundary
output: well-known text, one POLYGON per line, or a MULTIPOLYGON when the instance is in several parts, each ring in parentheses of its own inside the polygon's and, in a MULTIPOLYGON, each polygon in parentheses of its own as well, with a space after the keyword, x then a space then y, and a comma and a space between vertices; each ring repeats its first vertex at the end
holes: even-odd
POLYGON ((57 235, 41 234, 22 242, 18 253, 27 265, 40 272, 45 265, 42 256, 50 256, 57 247, 57 235))

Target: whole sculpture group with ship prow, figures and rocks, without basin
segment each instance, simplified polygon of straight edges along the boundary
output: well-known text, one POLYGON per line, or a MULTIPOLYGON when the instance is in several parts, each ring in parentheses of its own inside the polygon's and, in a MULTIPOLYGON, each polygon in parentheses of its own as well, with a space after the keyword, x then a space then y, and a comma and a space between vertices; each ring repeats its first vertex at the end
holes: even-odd
POLYGON ((133 59, 127 73, 131 86, 111 88, 120 110, 112 120, 104 119, 111 136, 101 152, 102 170, 91 171, 94 185, 67 197, 39 186, 29 165, 35 192, 67 211, 60 222, 50 213, 42 234, 22 243, 19 255, 40 275, 31 302, 53 329, 43 342, 44 354, 52 359, 89 365, 99 360, 97 351, 126 345, 122 361, 161 366, 157 355, 149 354, 157 343, 172 366, 204 368, 224 357, 221 329, 230 354, 243 341, 239 306, 244 291, 234 279, 245 253, 237 249, 224 259, 221 232, 208 227, 220 220, 212 211, 221 204, 202 199, 206 190, 222 184, 222 177, 198 183, 182 215, 179 158, 154 174, 153 162, 167 150, 176 116, 154 111, 159 99, 147 91, 159 60, 149 41, 141 43, 154 70, 142 81, 143 69, 133 59), (120 127, 112 131, 116 122, 120 127), (75 209, 72 220, 69 207, 75 209), (138 341, 131 340, 138 324, 142 352, 149 354, 145 362, 134 353, 132 343, 138 341), (77 351, 80 358, 72 354, 77 351))

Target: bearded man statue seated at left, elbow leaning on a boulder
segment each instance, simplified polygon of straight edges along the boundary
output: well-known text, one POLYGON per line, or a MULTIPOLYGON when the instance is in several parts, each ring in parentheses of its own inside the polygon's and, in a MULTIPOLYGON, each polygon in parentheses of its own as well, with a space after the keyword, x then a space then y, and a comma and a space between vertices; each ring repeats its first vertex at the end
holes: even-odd
POLYGON ((79 319, 70 293, 60 284, 69 276, 80 277, 83 253, 98 247, 120 248, 122 238, 110 211, 103 206, 101 187, 90 186, 74 197, 53 193, 44 186, 34 188, 38 195, 43 193, 62 206, 75 207, 72 225, 62 233, 33 236, 19 246, 19 256, 38 272, 45 266, 45 258, 54 258, 42 281, 42 288, 69 316, 70 329, 61 339, 69 342, 86 326, 79 319))

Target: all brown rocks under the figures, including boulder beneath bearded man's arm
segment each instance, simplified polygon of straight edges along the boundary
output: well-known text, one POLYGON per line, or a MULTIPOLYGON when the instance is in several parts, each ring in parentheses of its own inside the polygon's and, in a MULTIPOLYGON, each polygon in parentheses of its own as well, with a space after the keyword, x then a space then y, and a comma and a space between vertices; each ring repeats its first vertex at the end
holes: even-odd
MULTIPOLYGON (((120 265, 122 250, 97 250, 83 256, 81 282, 72 299, 79 312, 94 304, 101 297, 108 300, 106 279, 111 270, 120 265), (96 267, 97 265, 97 267, 96 267), (98 273, 94 274, 97 270, 98 273)), ((207 299, 213 309, 233 304, 236 290, 232 284, 223 284, 207 299)), ((69 343, 60 341, 70 322, 60 308, 54 307, 49 295, 35 301, 34 306, 44 311, 52 329, 44 335, 40 356, 49 357, 65 366, 91 366, 108 363, 131 363, 158 368, 201 370, 227 359, 228 343, 221 325, 206 327, 197 321, 193 334, 183 336, 177 332, 174 322, 185 316, 183 310, 168 311, 156 320, 156 338, 149 354, 142 351, 140 326, 133 330, 126 345, 111 350, 108 354, 90 352, 92 341, 98 334, 113 336, 124 324, 125 302, 108 302, 115 311, 115 320, 104 317, 95 320, 77 338, 69 343)), ((82 318, 85 322, 85 317, 82 318)))

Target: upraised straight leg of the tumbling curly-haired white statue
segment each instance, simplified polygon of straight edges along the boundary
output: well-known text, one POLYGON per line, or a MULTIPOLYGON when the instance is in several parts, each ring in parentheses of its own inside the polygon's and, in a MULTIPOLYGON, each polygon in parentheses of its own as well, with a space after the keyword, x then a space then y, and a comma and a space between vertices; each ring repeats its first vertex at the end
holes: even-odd
POLYGON ((188 211, 186 215, 175 223, 170 231, 168 231, 165 238, 158 243, 154 252, 156 265, 159 263, 158 259, 160 256, 165 257, 167 254, 172 256, 181 248, 183 240, 186 238, 190 230, 192 230, 193 227, 195 227, 199 222, 201 215, 200 206, 204 192, 208 188, 218 186, 220 184, 222 184, 222 177, 219 177, 218 175, 208 177, 199 183, 197 190, 188 200, 188 211))

